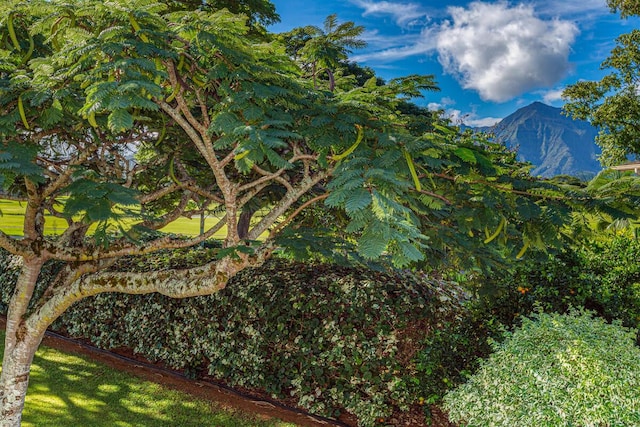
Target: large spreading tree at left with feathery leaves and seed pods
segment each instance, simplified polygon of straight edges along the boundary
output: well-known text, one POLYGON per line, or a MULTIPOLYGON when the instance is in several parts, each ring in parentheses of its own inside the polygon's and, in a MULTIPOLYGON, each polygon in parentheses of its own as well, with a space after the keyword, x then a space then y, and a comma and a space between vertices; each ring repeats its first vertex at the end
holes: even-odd
POLYGON ((423 236, 403 205, 413 181, 402 154, 420 138, 393 109, 430 78, 395 80, 375 99, 318 92, 284 49, 246 38, 244 18, 227 11, 165 13, 149 0, 1 9, 2 197, 27 206, 23 236, 0 233, 0 247, 23 263, 7 319, 1 425, 20 424, 33 354, 75 301, 216 292, 268 258, 273 239, 320 200, 346 210, 364 256, 384 252, 398 265, 421 257, 423 236), (241 210, 266 192, 269 206, 241 238, 241 210), (154 233, 208 204, 220 220, 201 236, 154 233), (45 234, 50 215, 66 221, 60 235, 45 234), (121 256, 194 245, 219 230, 218 257, 202 267, 108 270, 121 256), (50 261, 62 268, 35 299, 50 261))

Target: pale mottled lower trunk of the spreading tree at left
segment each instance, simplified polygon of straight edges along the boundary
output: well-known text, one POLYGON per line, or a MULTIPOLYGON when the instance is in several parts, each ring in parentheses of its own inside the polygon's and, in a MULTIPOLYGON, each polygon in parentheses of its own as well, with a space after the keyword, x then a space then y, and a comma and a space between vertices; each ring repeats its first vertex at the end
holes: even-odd
POLYGON ((9 303, 0 374, 0 427, 20 425, 31 362, 44 334, 44 331, 39 333, 28 329, 24 323, 42 264, 41 259, 24 259, 16 289, 9 303))

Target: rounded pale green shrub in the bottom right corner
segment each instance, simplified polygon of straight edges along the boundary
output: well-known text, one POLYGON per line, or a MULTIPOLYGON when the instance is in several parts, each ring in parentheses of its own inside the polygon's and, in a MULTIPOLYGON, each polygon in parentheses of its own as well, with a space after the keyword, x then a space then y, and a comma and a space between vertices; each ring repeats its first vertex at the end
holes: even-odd
POLYGON ((444 406, 468 427, 640 425, 634 339, 589 312, 525 318, 444 406))

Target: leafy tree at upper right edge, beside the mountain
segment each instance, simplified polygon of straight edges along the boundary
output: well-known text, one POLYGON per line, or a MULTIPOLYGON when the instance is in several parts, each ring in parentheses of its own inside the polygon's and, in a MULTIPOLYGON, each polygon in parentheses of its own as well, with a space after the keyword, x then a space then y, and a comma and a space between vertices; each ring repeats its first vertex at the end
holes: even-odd
MULTIPOLYGON (((640 16, 640 5, 631 0, 608 0, 621 17, 640 16)), ((581 81, 567 87, 565 111, 600 128, 596 142, 601 162, 612 166, 640 154, 640 29, 618 37, 616 47, 602 63, 610 70, 600 81, 581 81)))

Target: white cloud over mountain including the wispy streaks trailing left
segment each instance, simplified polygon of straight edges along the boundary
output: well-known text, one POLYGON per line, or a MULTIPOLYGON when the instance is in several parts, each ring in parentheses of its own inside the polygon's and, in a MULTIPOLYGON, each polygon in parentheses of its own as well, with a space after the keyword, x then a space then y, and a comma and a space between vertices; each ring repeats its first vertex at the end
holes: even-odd
POLYGON ((551 88, 567 75, 571 69, 569 53, 579 30, 573 20, 558 16, 606 11, 602 4, 596 7, 596 2, 603 0, 582 0, 582 11, 579 0, 561 5, 550 0, 519 5, 475 1, 446 11, 430 9, 436 18, 415 2, 350 1, 363 10, 363 16, 390 16, 398 26, 422 22, 419 34, 408 31, 396 37, 393 45, 382 45, 379 37, 372 38, 374 49, 354 56, 355 61, 388 64, 412 56, 436 55, 444 72, 463 88, 495 102, 532 89, 551 88))

